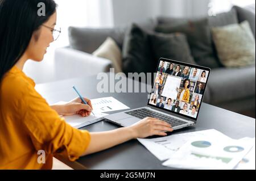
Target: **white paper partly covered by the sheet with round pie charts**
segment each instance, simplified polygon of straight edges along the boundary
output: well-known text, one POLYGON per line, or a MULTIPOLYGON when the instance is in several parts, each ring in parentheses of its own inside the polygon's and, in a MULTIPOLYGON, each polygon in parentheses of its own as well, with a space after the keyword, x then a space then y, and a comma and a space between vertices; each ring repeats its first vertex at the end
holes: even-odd
POLYGON ((207 129, 204 131, 174 134, 171 136, 151 139, 138 138, 138 141, 141 142, 141 144, 144 145, 152 154, 154 154, 156 158, 160 161, 164 161, 170 158, 187 141, 197 136, 229 138, 225 136, 225 134, 216 131, 216 129, 207 129))

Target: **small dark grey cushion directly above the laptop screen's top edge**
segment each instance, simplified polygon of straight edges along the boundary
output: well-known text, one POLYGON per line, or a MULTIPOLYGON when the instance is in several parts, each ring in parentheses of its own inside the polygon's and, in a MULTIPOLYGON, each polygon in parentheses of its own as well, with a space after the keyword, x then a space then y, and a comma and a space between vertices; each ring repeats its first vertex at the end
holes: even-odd
POLYGON ((189 64, 196 64, 187 42, 187 37, 183 33, 151 33, 150 44, 155 61, 159 58, 183 61, 189 64))

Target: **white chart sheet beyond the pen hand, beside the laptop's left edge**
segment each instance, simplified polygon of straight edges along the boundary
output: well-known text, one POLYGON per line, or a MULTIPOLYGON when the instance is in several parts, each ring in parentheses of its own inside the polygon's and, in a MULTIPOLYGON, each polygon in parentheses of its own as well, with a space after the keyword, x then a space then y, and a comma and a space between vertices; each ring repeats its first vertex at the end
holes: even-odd
POLYGON ((94 113, 129 109, 129 107, 113 97, 92 99, 90 101, 92 102, 94 113))

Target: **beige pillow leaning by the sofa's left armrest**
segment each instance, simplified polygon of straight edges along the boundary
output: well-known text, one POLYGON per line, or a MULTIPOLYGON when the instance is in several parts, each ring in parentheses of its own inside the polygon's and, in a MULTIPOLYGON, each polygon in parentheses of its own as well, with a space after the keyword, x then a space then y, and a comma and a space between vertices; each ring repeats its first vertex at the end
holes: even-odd
POLYGON ((111 37, 108 37, 92 54, 97 57, 111 60, 115 73, 122 72, 122 52, 111 37))

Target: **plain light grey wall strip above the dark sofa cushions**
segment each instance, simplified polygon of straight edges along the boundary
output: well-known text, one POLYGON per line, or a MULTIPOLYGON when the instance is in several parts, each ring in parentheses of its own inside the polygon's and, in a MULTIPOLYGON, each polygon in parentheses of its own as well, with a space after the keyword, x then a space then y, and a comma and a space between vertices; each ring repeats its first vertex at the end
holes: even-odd
POLYGON ((200 17, 208 14, 210 0, 112 0, 114 26, 156 16, 200 17))

